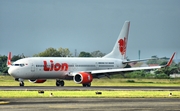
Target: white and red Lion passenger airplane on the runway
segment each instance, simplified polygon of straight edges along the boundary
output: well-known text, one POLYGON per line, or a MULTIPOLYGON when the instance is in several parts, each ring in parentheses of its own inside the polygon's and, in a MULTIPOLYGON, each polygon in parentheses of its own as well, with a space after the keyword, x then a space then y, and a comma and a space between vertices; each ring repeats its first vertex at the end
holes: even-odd
POLYGON ((90 87, 94 78, 135 70, 159 69, 171 65, 175 53, 164 66, 125 68, 130 62, 141 61, 126 59, 129 28, 130 21, 125 21, 114 48, 104 57, 28 57, 11 63, 11 52, 9 52, 8 73, 19 81, 19 86, 24 86, 24 80, 44 83, 47 79, 56 79, 56 86, 64 86, 64 80, 74 80, 83 87, 90 87))

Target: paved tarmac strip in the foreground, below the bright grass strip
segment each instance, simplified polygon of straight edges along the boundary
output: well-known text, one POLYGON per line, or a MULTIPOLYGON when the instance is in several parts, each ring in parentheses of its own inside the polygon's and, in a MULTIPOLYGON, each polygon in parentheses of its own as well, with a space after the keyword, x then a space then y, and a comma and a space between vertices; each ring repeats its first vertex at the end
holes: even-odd
POLYGON ((13 98, 0 111, 179 111, 178 98, 13 98))

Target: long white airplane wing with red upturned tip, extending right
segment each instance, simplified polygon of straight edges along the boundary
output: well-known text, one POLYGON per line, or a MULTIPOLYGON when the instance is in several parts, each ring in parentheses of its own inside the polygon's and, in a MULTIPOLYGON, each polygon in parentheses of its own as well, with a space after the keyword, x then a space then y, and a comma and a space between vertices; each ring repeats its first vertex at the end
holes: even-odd
POLYGON ((103 73, 113 73, 113 72, 128 72, 128 71, 136 71, 136 70, 145 70, 145 69, 160 69, 164 67, 168 67, 172 64, 175 53, 173 53, 172 57, 169 59, 168 63, 164 66, 152 66, 152 67, 135 67, 135 68, 121 68, 121 69, 107 69, 107 70, 94 70, 91 71, 91 74, 103 74, 103 73))

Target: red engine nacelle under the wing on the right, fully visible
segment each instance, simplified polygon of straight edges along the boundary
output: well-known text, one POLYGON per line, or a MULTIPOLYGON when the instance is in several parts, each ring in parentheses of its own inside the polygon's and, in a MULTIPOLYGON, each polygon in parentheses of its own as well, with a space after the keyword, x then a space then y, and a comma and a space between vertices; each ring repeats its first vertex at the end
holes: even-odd
POLYGON ((79 74, 76 74, 73 79, 74 82, 78 84, 87 84, 92 82, 93 77, 87 72, 79 72, 79 74))

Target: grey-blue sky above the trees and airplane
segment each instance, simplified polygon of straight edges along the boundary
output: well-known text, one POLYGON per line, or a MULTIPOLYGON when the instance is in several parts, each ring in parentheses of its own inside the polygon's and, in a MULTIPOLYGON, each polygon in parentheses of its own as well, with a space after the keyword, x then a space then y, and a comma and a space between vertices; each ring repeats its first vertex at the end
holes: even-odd
POLYGON ((126 20, 129 59, 180 59, 180 0, 0 0, 0 55, 49 47, 109 53, 126 20))

